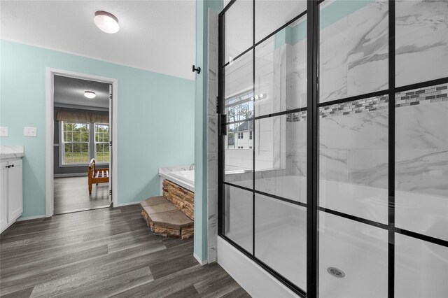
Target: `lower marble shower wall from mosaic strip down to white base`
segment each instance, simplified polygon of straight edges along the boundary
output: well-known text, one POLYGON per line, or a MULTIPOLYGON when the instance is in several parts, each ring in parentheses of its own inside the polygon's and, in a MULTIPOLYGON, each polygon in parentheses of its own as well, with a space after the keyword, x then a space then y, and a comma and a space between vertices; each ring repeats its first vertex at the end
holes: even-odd
MULTIPOLYGON (((443 84, 395 94, 397 190, 447 195, 447 91, 443 84)), ((321 179, 387 187, 387 106, 387 97, 373 97, 321 108, 321 179)), ((304 119, 300 112, 287 121, 304 119)))

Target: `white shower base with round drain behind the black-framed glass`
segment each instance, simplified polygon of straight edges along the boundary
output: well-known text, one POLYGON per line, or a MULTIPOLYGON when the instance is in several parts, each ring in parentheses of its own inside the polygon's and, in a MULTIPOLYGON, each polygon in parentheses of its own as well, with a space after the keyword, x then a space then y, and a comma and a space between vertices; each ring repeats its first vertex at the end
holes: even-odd
MULTIPOLYGON (((306 178, 260 178, 255 189, 306 203, 306 178)), ((234 181, 252 188, 252 180, 234 181)), ((225 234, 252 252, 252 193, 226 185, 225 234)), ((387 224, 388 194, 379 187, 321 180, 320 206, 387 224)), ((397 191, 397 227, 448 237, 447 198, 397 191), (401 226, 400 226, 401 225, 401 226)), ((306 290, 305 207, 255 195, 255 257, 306 290)), ((387 297, 388 231, 319 212, 321 297, 387 297), (327 269, 344 272, 337 278, 327 269)), ((396 234, 396 297, 448 297, 448 248, 396 234), (412 248, 412 249, 409 249, 412 248)))

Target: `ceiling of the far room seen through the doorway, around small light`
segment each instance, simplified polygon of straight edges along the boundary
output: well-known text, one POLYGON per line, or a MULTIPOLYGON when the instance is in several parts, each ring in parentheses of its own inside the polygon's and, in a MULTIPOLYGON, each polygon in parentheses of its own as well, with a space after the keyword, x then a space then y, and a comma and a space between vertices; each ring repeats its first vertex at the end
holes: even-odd
POLYGON ((55 106, 109 109, 109 84, 107 83, 55 76, 53 85, 55 106), (93 91, 97 97, 87 99, 84 96, 85 91, 93 91))

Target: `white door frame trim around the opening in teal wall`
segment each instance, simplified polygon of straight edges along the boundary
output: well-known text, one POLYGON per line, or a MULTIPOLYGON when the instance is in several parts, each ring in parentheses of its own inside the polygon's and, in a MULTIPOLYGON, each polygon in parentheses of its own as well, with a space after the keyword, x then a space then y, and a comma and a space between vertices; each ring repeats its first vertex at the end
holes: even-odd
MULTIPOLYGON (((47 67, 45 69, 45 114, 46 114, 46 134, 45 134, 45 217, 53 215, 54 198, 53 198, 53 164, 54 164, 54 149, 55 142, 54 130, 54 98, 53 98, 53 82, 56 76, 68 76, 71 78, 80 78, 83 80, 94 80, 97 82, 112 84, 112 203, 113 206, 118 206, 118 80, 116 78, 106 78, 102 76, 93 76, 87 73, 77 73, 73 71, 66 71, 63 69, 53 69, 47 67)), ((87 189, 87 185, 86 185, 87 189)))

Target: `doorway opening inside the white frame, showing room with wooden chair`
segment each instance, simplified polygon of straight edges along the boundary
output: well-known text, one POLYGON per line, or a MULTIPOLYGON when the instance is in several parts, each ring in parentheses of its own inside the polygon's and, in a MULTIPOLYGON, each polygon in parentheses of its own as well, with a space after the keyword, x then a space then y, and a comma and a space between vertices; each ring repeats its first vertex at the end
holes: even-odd
MULTIPOLYGON (((88 169, 109 178, 111 84, 54 76, 54 213, 111 206, 109 182, 88 185, 88 169), (90 164, 92 162, 92 164, 90 164)), ((106 179, 107 180, 107 179, 106 179)))

